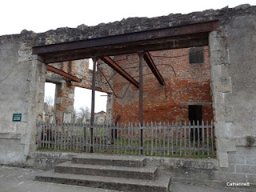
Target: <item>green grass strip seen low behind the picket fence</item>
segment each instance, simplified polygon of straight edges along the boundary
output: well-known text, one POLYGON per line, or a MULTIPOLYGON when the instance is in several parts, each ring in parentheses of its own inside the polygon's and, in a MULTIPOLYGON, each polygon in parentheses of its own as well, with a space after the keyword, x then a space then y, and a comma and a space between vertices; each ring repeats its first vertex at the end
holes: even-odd
MULTIPOLYGON (((99 140, 99 139, 98 139, 99 140)), ((114 144, 112 145, 106 145, 106 143, 104 143, 104 149, 103 149, 103 142, 101 142, 101 147, 95 147, 94 151, 97 153, 102 153, 102 154, 129 154, 129 155, 139 155, 140 153, 140 148, 139 146, 139 142, 135 142, 134 140, 128 140, 128 139, 115 139, 114 140, 114 144), (120 149, 121 146, 126 146, 126 149, 120 149)), ((144 141, 144 150, 143 150, 143 154, 146 156, 154 156, 154 157, 174 157, 174 158, 215 158, 215 153, 213 153, 213 151, 211 151, 211 146, 210 148, 210 153, 209 156, 207 155, 206 152, 206 143, 205 143, 205 151, 204 153, 202 153, 202 148, 200 150, 197 150, 197 148, 195 148, 195 153, 194 150, 189 150, 189 146, 188 143, 185 144, 184 141, 180 142, 180 140, 178 140, 178 145, 176 146, 176 141, 174 140, 174 145, 172 146, 169 143, 169 154, 168 154, 168 142, 164 142, 163 140, 149 140, 149 141, 144 141), (151 153, 151 146, 153 143, 153 152, 151 153), (164 146, 165 145, 165 150, 164 146), (184 149, 186 145, 186 150, 184 149), (149 146, 149 147, 147 147, 149 146), (174 150, 172 150, 172 147, 174 147, 174 150), (180 148, 183 148, 182 150, 180 148), (148 150, 149 149, 149 150, 148 150), (160 151, 160 149, 162 149, 160 151), (186 152, 186 154, 185 154, 186 152)), ((211 144, 211 141, 209 141, 209 143, 211 144)), ((63 143, 62 143, 63 144, 63 143)), ((70 142, 70 145, 67 145, 68 143, 66 142, 66 149, 64 149, 63 145, 62 147, 60 145, 56 145, 54 148, 54 145, 51 145, 49 148, 48 146, 41 146, 38 148, 38 151, 61 151, 61 152, 83 152, 83 148, 82 147, 76 147, 76 143, 75 143, 75 147, 74 149, 70 149, 70 146, 72 146, 72 144, 74 144, 74 142, 70 142), (81 150, 80 150, 81 149, 81 150)), ((79 143, 80 144, 80 143, 79 143)), ((97 144, 96 144, 97 145, 97 144)), ((99 141, 98 141, 98 146, 99 146, 99 141)), ((193 149, 193 142, 191 143, 191 149, 193 149)), ((198 142, 195 142, 195 147, 198 146, 198 142)), ((214 145, 215 146, 215 145, 214 145)), ((202 147, 202 142, 200 142, 200 146, 202 147)), ((90 150, 90 146, 88 145, 87 147, 87 151, 89 152, 90 150)), ((214 149, 215 150, 215 149, 214 149)))

